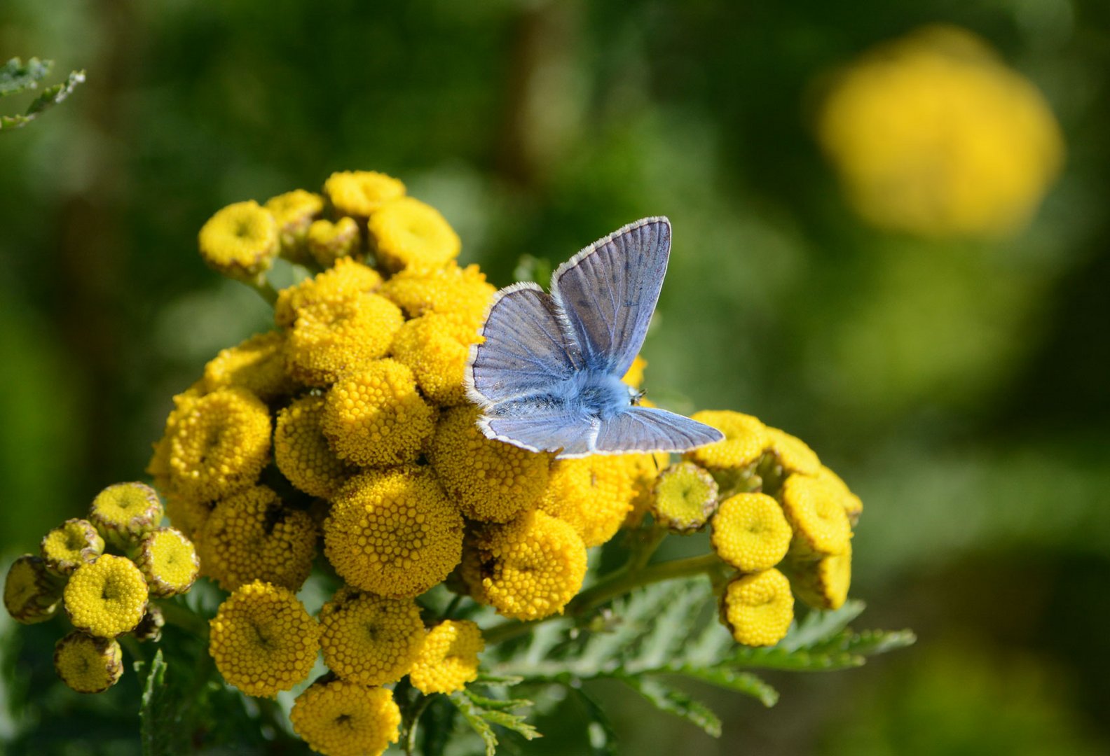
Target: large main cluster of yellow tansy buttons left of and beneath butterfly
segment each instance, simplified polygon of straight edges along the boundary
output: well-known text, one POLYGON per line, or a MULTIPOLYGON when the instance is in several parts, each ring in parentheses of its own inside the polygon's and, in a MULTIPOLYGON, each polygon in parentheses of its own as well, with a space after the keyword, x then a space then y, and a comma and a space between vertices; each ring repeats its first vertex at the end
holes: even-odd
POLYGON ((382 686, 476 677, 477 625, 425 622, 416 596, 450 582, 506 617, 559 614, 586 549, 635 521, 659 469, 649 454, 555 462, 478 431, 463 375, 496 289, 460 249, 436 210, 366 171, 236 203, 201 231, 202 257, 233 278, 263 288, 279 256, 311 275, 274 293, 273 330, 174 397, 149 472, 231 592, 211 634, 224 678, 273 696, 322 651, 329 677, 293 724, 323 753, 396 738, 382 686), (295 594, 321 553, 345 584, 312 619, 295 594))

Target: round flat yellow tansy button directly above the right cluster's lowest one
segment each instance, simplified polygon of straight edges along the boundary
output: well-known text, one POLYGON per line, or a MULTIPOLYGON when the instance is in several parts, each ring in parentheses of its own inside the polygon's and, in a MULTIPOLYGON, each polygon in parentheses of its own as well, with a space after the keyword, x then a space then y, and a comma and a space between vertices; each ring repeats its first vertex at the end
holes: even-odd
POLYGON ((713 517, 713 550, 741 572, 759 572, 786 556, 793 533, 783 508, 766 493, 737 493, 713 517))

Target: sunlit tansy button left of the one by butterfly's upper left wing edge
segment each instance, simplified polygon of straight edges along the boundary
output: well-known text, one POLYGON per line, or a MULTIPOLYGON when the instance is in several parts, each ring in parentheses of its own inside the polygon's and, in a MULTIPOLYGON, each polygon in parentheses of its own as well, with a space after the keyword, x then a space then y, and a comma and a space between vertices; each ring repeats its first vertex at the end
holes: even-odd
POLYGON ((285 367, 309 386, 329 386, 344 370, 384 357, 404 321, 401 309, 376 294, 305 305, 289 334, 285 367))

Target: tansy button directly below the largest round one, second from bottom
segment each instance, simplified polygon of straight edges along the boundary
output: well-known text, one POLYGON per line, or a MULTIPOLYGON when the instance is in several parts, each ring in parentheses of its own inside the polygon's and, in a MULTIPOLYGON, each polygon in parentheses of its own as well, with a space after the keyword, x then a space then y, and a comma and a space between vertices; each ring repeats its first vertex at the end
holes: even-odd
POLYGON ((424 643, 424 622, 412 599, 383 599, 340 589, 320 610, 324 664, 362 685, 395 683, 424 643))

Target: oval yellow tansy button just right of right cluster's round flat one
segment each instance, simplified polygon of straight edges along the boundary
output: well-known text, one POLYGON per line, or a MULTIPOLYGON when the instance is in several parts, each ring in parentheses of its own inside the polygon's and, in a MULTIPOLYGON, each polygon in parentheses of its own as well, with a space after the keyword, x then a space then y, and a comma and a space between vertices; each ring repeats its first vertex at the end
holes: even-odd
POLYGON ((783 513, 794 528, 790 551, 800 559, 842 554, 851 525, 834 487, 809 476, 793 474, 778 493, 783 513))

